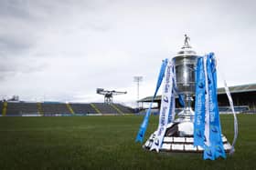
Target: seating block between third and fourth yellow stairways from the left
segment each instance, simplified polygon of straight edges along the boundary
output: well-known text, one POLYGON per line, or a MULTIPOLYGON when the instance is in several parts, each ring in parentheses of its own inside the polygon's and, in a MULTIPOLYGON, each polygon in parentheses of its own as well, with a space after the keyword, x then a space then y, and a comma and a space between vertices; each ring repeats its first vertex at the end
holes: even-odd
POLYGON ((82 115, 87 115, 87 114, 98 114, 96 110, 90 105, 90 104, 69 104, 75 114, 82 114, 82 115))

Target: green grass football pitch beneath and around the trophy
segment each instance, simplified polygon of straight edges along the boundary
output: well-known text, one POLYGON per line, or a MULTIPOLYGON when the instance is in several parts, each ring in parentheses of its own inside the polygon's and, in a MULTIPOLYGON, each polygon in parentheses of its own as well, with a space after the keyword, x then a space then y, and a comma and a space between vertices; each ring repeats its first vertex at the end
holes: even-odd
MULTIPOLYGON (((143 116, 0 117, 0 170, 9 169, 256 169, 256 115, 238 115, 234 155, 157 154, 134 139, 143 116)), ((151 116, 145 139, 155 131, 151 116)), ((232 142, 233 117, 221 115, 232 142)))

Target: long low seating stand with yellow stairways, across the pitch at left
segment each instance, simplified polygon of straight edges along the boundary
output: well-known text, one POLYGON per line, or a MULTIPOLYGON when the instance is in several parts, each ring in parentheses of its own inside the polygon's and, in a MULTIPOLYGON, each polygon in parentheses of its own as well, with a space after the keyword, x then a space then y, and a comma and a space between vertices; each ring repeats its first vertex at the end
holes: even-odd
POLYGON ((0 101, 2 116, 123 115, 133 109, 120 104, 0 101))

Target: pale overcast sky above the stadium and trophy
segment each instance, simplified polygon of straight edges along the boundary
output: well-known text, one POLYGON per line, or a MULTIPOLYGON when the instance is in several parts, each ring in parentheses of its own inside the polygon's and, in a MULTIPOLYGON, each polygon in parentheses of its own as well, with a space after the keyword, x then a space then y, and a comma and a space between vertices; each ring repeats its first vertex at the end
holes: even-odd
MULTIPOLYGON (((214 52, 219 86, 256 83, 253 0, 0 0, 0 97, 103 102, 96 88, 154 95, 163 59, 184 35, 198 55, 214 52)), ((161 91, 161 90, 160 90, 161 91)), ((161 94, 158 93, 158 94, 161 94)))

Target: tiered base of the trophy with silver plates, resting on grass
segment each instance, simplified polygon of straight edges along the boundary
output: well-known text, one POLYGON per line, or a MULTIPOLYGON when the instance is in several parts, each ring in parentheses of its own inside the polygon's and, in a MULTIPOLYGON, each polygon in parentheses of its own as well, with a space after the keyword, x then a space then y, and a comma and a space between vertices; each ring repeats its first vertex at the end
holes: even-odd
MULTIPOLYGON (((175 122, 168 125, 163 145, 159 152, 173 152, 173 153, 202 153, 203 148, 194 146, 193 137, 194 125, 192 122, 175 122)), ((155 132, 156 133, 156 132, 155 132)), ((155 133, 143 145, 144 149, 149 150, 155 139, 155 133)), ((222 141, 225 152, 228 153, 231 149, 227 138, 222 135, 222 141)))

